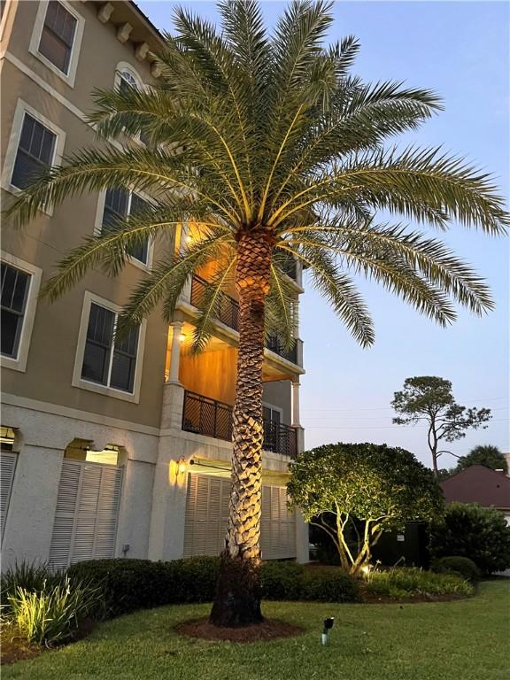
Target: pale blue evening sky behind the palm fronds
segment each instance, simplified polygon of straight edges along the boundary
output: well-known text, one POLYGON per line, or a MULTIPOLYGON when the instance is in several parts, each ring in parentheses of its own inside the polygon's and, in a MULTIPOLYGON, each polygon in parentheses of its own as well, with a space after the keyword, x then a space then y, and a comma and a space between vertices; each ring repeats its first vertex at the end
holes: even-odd
MULTIPOLYGON (((160 29, 171 28, 176 3, 139 2, 160 29)), ((213 3, 180 3, 218 20, 213 3)), ((267 25, 285 4, 265 2, 267 25)), ((505 2, 337 2, 331 41, 354 34, 361 50, 352 69, 367 81, 398 80, 435 89, 445 111, 406 143, 443 144, 491 171, 502 193, 509 186, 509 5, 505 2)), ((363 350, 313 290, 301 302, 306 375, 301 380, 305 444, 386 442, 403 446, 429 464, 426 429, 391 424, 390 400, 406 377, 451 380, 465 406, 493 410, 489 427, 468 430, 450 444, 467 453, 476 444, 508 441, 508 242, 454 227, 441 236, 490 283, 497 307, 483 318, 459 310, 458 321, 439 328, 397 298, 360 283, 375 320, 375 346, 363 350)), ((452 456, 440 459, 450 467, 452 456)))

